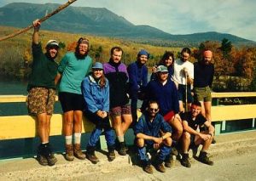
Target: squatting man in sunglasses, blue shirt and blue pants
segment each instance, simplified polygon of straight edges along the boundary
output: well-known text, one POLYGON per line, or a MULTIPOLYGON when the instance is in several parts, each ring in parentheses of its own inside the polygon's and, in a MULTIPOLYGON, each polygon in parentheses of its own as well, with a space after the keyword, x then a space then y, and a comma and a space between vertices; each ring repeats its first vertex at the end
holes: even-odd
POLYGON ((159 105, 156 101, 149 101, 148 108, 139 118, 134 133, 138 156, 143 163, 143 170, 146 173, 153 173, 151 161, 148 158, 147 150, 160 150, 155 156, 155 167, 161 173, 166 172, 163 162, 166 156, 170 155, 172 145, 172 127, 158 114, 159 105))

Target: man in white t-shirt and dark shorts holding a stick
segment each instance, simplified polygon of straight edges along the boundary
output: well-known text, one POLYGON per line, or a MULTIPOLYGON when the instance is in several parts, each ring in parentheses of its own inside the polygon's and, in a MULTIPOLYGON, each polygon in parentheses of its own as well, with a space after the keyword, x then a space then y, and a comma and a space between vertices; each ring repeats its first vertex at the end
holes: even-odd
POLYGON ((174 62, 172 79, 177 85, 180 111, 185 110, 183 103, 185 103, 187 110, 190 110, 193 99, 191 85, 194 80, 194 65, 189 62, 190 54, 191 50, 189 48, 183 48, 181 51, 181 58, 174 62))

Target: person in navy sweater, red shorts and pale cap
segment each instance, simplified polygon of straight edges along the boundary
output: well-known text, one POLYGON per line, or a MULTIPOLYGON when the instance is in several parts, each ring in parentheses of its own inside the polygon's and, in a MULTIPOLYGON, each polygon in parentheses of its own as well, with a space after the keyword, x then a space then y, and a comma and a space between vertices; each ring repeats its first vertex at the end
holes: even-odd
MULTIPOLYGON (((157 79, 148 82, 146 88, 146 101, 147 99, 156 100, 160 107, 160 115, 164 116, 166 122, 172 127, 172 154, 168 157, 168 161, 166 161, 166 167, 172 167, 174 163, 173 156, 178 155, 176 145, 182 136, 183 126, 178 114, 179 104, 177 88, 175 83, 168 78, 168 74, 169 72, 165 65, 159 65, 157 67, 157 79)), ((146 105, 146 101, 143 103, 143 107, 146 105)))

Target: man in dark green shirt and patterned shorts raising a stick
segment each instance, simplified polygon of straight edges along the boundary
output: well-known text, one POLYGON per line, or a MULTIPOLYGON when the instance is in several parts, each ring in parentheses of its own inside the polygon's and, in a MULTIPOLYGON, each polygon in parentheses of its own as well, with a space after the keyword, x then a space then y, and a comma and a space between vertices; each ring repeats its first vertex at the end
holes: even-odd
POLYGON ((59 44, 56 40, 49 40, 44 54, 41 43, 39 43, 40 25, 39 20, 33 21, 32 74, 27 85, 26 101, 29 114, 36 116, 38 123, 37 130, 41 144, 38 146, 37 160, 43 166, 53 166, 57 160, 49 147, 49 128, 55 103, 55 76, 58 69, 55 58, 59 44))

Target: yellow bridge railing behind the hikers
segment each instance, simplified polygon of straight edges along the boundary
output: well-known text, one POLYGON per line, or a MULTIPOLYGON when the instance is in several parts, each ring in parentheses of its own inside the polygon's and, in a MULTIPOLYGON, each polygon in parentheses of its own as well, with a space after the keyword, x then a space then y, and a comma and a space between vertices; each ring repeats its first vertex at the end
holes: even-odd
MULTIPOLYGON (((217 102, 221 98, 245 98, 256 97, 256 92, 247 93, 212 93, 212 102, 217 102), (216 100, 217 99, 217 100, 216 100)), ((58 100, 58 97, 56 97, 58 100)), ((1 103, 26 102, 25 95, 1 95, 1 103)), ((140 114, 140 113, 139 113, 140 114)), ((213 105, 212 122, 215 122, 216 133, 220 133, 219 128, 222 122, 254 119, 256 117, 256 104, 254 105, 213 105)), ((62 134, 63 117, 61 114, 54 114, 50 123, 50 135, 62 134)), ((0 116, 0 140, 4 139, 24 139, 37 136, 36 121, 32 116, 0 116)), ((94 125, 83 118, 82 133, 92 131, 94 125)))

